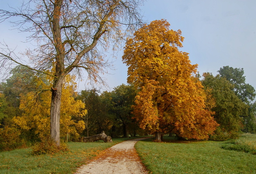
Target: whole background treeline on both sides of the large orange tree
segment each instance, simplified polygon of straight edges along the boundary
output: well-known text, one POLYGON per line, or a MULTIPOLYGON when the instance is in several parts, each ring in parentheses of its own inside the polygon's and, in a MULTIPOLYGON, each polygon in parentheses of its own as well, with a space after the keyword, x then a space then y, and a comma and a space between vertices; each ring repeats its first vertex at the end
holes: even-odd
MULTIPOLYGON (((207 94, 206 107, 219 124, 213 140, 238 138, 242 132, 256 133, 255 89, 245 82, 243 69, 224 66, 213 76, 200 78, 207 94)), ((199 78, 199 75, 197 75, 199 78)), ((102 130, 111 137, 147 135, 133 115, 138 89, 120 85, 113 91, 76 91, 74 76, 67 76, 61 105, 61 139, 77 141, 102 130)), ((22 67, 0 85, 0 149, 24 147, 50 136, 52 79, 22 67)))

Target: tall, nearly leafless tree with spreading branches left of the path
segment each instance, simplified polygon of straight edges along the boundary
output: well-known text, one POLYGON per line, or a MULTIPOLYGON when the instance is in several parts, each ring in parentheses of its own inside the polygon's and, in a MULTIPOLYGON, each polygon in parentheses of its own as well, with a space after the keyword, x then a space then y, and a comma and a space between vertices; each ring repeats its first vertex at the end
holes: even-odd
POLYGON ((140 0, 29 0, 21 8, 0 10, 0 22, 18 17, 12 23, 21 32, 31 33, 28 41, 38 43, 35 49, 26 51, 34 66, 19 62, 20 57, 6 46, 0 51, 1 68, 19 64, 54 78, 51 137, 57 145, 63 80, 71 71, 81 75, 84 69, 88 79, 102 82, 99 73, 109 65, 102 51, 140 24, 139 5, 140 0))

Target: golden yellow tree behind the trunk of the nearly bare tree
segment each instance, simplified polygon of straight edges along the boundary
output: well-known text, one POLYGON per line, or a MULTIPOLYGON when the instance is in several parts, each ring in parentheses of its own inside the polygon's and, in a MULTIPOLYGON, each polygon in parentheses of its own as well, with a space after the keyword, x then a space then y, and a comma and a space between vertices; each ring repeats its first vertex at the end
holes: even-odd
MULTIPOLYGON (((48 89, 52 84, 53 78, 38 80, 37 86, 41 89, 48 89), (50 81, 50 82, 48 82, 50 81)), ((68 139, 69 134, 78 135, 85 129, 83 117, 86 114, 85 104, 75 101, 77 93, 76 84, 73 82, 75 76, 67 75, 62 88, 61 98, 61 117, 60 132, 61 136, 68 139)), ((44 90, 42 90, 44 91, 44 90)), ((23 110, 22 116, 14 117, 16 125, 25 130, 34 130, 38 136, 44 137, 50 134, 50 115, 51 115, 51 91, 30 92, 21 96, 20 109, 23 110)))

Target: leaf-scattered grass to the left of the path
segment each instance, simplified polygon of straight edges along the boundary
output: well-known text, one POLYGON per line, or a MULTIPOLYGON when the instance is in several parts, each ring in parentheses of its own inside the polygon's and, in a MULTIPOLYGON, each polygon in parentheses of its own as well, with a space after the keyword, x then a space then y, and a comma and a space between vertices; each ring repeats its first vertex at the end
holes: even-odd
POLYGON ((127 139, 113 139, 112 143, 69 142, 68 152, 54 155, 32 155, 32 149, 16 149, 0 152, 1 174, 56 174, 74 173, 77 167, 86 164, 100 151, 127 139))

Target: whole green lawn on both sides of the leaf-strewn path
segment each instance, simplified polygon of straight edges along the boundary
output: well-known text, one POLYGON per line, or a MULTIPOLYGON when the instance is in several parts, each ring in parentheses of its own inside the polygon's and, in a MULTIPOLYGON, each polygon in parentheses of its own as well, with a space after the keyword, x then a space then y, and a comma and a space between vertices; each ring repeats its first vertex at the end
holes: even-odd
MULTIPOLYGON (((153 174, 256 174, 256 155, 223 149, 223 145, 229 145, 228 141, 174 141, 164 138, 167 142, 156 143, 147 139, 135 145, 143 163, 153 174)), ((68 152, 55 155, 33 156, 31 148, 0 152, 0 173, 71 174, 103 149, 124 140, 127 139, 113 139, 113 143, 70 142, 68 152)), ((254 147, 256 135, 246 134, 235 141, 254 147)))

